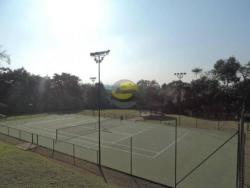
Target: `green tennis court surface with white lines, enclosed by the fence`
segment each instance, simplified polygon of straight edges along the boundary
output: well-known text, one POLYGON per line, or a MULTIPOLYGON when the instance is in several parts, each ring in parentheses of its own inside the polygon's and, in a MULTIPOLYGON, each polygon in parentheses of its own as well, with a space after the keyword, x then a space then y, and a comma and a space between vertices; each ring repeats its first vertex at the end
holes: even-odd
MULTIPOLYGON (((96 122, 94 116, 46 115, 2 120, 0 132, 97 163, 96 122)), ((102 165, 174 186, 174 121, 156 123, 103 118, 101 125, 102 165)), ((178 127, 177 182, 234 133, 233 129, 178 127)), ((236 150, 237 137, 234 137, 177 187, 235 187, 236 150)))

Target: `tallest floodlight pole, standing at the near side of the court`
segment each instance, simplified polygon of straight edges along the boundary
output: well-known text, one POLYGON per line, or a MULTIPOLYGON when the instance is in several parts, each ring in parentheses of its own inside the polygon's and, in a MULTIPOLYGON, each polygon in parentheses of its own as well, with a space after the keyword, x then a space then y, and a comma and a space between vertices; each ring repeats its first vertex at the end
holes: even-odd
POLYGON ((101 51, 101 52, 93 52, 90 53, 91 57, 94 57, 95 62, 98 64, 98 147, 99 147, 99 155, 98 155, 98 162, 99 167, 101 168, 101 100, 100 100, 100 64, 104 57, 108 55, 110 50, 101 51))

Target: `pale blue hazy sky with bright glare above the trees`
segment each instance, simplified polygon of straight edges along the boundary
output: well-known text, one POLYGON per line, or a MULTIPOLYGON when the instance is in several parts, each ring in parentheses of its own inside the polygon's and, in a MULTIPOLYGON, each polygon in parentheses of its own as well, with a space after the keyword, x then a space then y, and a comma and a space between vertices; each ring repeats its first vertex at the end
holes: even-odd
POLYGON ((0 50, 11 68, 90 82, 90 52, 110 50, 101 80, 160 84, 218 59, 250 61, 249 0, 0 0, 0 50))

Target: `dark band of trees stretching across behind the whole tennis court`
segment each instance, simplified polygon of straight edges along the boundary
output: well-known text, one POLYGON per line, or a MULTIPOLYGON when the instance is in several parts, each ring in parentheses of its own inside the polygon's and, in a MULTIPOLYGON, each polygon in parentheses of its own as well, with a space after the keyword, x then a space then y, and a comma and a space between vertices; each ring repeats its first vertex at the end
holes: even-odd
MULTIPOLYGON (((82 83, 68 73, 42 77, 24 68, 10 69, 8 55, 0 52, 0 114, 74 112, 96 109, 98 84, 82 83)), ((139 80, 136 106, 139 110, 187 115, 235 114, 243 101, 249 109, 250 62, 235 57, 218 60, 212 70, 194 68, 190 82, 172 81, 160 85, 155 80, 139 80)), ((104 109, 116 108, 111 91, 100 84, 104 109)))

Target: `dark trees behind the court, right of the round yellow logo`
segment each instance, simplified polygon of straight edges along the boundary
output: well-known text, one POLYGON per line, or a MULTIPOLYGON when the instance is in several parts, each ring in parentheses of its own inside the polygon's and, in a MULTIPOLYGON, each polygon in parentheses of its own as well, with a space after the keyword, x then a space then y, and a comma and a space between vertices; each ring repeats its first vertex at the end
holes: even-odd
POLYGON ((203 72, 194 68, 194 79, 164 83, 140 80, 139 106, 195 116, 240 113, 243 103, 250 110, 250 61, 241 64, 235 57, 220 59, 213 69, 203 72))

